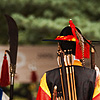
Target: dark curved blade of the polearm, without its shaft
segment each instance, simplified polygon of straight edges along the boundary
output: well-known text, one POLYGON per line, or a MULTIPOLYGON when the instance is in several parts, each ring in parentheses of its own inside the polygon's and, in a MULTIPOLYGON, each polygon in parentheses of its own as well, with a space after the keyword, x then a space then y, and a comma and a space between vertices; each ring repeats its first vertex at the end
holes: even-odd
POLYGON ((9 34, 9 43, 10 48, 8 54, 10 56, 10 63, 16 65, 17 58, 17 48, 18 48, 18 28, 16 22, 9 15, 5 15, 8 23, 8 34, 9 34))

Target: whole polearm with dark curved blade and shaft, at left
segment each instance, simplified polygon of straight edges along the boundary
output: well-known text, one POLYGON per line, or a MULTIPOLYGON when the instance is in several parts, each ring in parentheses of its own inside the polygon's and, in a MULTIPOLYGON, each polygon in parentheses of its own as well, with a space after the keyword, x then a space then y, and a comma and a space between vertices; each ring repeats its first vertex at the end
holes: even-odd
POLYGON ((9 34, 9 50, 6 52, 10 56, 10 100, 13 100, 13 90, 14 90, 14 76, 16 72, 16 59, 17 59, 17 49, 18 49, 18 28, 14 19, 8 15, 5 15, 8 23, 8 34, 9 34))

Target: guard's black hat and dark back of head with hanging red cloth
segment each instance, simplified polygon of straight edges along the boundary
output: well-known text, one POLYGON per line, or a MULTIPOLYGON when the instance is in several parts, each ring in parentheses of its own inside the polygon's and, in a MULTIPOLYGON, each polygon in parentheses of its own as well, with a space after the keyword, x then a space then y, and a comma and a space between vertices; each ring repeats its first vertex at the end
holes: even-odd
POLYGON ((44 39, 44 41, 59 42, 62 50, 73 49, 73 54, 75 54, 78 59, 82 58, 82 49, 84 48, 84 57, 89 58, 89 41, 84 40, 81 31, 75 27, 72 20, 69 20, 69 26, 62 29, 59 36, 55 39, 44 39), (85 43, 85 41, 88 43, 85 43), (83 48, 81 44, 83 44, 83 48))

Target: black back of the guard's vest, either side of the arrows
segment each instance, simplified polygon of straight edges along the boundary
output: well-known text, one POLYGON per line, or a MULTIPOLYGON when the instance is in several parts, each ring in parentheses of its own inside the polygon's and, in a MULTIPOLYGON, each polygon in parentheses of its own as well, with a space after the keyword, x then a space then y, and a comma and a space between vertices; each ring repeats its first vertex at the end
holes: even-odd
MULTIPOLYGON (((74 68, 77 100, 92 100, 96 78, 95 70, 79 66, 74 66, 74 68)), ((63 96, 59 69, 60 68, 56 68, 46 72, 46 80, 51 92, 51 100, 55 85, 57 86, 57 96, 63 96)))

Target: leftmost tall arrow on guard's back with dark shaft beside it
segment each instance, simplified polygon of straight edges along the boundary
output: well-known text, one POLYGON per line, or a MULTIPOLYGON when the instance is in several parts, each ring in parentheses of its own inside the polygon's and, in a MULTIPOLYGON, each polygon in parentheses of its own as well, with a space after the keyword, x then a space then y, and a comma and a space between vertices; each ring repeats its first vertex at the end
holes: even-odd
POLYGON ((62 85, 62 92, 63 92, 63 98, 58 97, 59 100, 68 100, 68 89, 67 89, 67 76, 66 76, 66 67, 64 64, 64 55, 63 52, 60 50, 60 46, 58 43, 58 51, 57 51, 57 61, 58 66, 60 67, 60 78, 61 78, 61 85, 62 85))

